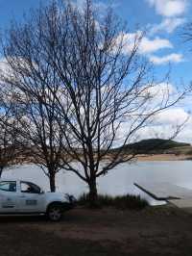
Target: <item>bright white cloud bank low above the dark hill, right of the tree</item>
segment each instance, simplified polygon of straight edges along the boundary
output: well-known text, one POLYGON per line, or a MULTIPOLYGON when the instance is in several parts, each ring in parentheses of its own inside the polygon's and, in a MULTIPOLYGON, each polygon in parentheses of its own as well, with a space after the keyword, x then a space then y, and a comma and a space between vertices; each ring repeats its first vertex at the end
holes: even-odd
MULTIPOLYGON (((162 101, 166 102, 166 100, 170 100, 169 102, 174 102, 179 96, 178 90, 170 83, 155 84, 146 92, 152 95, 152 100, 146 109, 147 112, 149 110, 149 113, 156 110, 156 106, 162 104, 162 101)), ((134 114, 139 115, 139 113, 136 112, 134 114)), ((116 146, 119 146, 127 137, 128 132, 133 128, 133 121, 134 118, 132 115, 132 118, 129 117, 121 124, 116 146)), ((137 122, 135 125, 136 124, 137 122)), ((181 130, 175 140, 192 142, 192 115, 185 110, 184 106, 181 107, 179 103, 171 108, 156 113, 156 115, 153 115, 149 119, 149 122, 147 121, 145 124, 144 127, 132 134, 128 143, 150 138, 170 139, 176 135, 178 128, 181 128, 181 130)))

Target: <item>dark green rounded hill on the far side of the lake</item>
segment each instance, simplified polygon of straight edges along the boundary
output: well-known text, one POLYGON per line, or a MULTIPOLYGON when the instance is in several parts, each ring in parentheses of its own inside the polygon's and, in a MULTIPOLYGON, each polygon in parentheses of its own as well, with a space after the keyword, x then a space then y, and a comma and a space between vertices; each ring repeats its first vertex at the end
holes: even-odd
MULTIPOLYGON (((123 147, 124 153, 136 153, 136 154, 162 154, 162 153, 172 153, 172 149, 181 147, 192 150, 192 146, 189 143, 183 143, 172 140, 163 139, 149 139, 127 144, 123 147)), ((111 150, 111 153, 116 151, 117 148, 111 150)), ((174 150, 173 150, 173 153, 174 150)))

